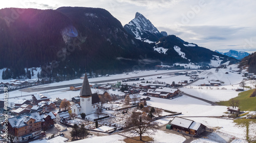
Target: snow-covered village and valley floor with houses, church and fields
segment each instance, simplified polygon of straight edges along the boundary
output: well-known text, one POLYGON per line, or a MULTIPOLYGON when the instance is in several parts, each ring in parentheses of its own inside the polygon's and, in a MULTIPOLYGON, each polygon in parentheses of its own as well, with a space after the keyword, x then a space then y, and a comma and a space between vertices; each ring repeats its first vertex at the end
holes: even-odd
MULTIPOLYGON (((2 128, 13 129, 13 135, 7 139, 13 142, 134 142, 140 137, 148 142, 256 140, 256 107, 254 97, 250 97, 256 76, 241 71, 237 65, 209 70, 136 71, 93 78, 87 74, 80 79, 9 92, 8 125, 4 124, 4 114, 1 116, 2 128)), ((1 87, 12 89, 15 83, 21 82, 2 82, 1 87)), ((5 134, 1 136, 5 140, 5 134)))

